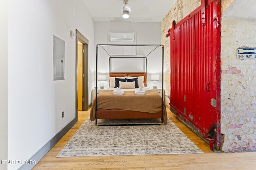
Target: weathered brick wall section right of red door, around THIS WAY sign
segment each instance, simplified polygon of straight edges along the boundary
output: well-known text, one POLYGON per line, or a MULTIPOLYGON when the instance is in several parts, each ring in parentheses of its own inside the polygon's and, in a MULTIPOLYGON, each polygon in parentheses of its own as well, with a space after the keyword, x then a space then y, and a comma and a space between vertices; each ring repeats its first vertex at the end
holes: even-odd
POLYGON ((236 59, 239 47, 256 47, 256 19, 221 19, 221 133, 224 152, 255 151, 256 60, 236 59))

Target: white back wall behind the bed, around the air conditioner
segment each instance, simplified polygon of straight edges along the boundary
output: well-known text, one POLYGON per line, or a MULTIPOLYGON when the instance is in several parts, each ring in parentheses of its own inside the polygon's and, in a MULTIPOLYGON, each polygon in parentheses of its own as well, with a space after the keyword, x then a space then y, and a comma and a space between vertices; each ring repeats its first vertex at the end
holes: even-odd
MULTIPOLYGON (((120 33, 136 33, 137 44, 161 44, 161 23, 149 22, 130 22, 130 21, 110 21, 110 22, 95 22, 95 46, 97 44, 108 44, 109 32, 120 33)), ((112 43, 113 44, 113 43, 112 43)), ((117 43, 116 43, 117 44, 117 43)), ((123 43, 125 44, 125 43, 123 43)), ((129 44, 129 43, 127 43, 129 44)), ((150 81, 151 73, 160 73, 162 71, 162 47, 158 47, 152 54, 148 56, 147 60, 147 85, 149 88, 153 87, 153 82, 150 81)), ((108 73, 108 55, 100 47, 98 48, 98 72, 108 73), (104 55, 104 56, 103 56, 104 55)), ((137 56, 147 55, 151 49, 150 47, 137 47, 137 56)), ((122 64, 122 63, 120 63, 122 64)), ((124 65, 125 66, 125 65, 124 65)), ((129 67, 129 65, 127 65, 129 67)), ((104 82, 104 86, 108 87, 108 81, 104 82)), ((157 82, 157 86, 161 88, 161 81, 157 82)))

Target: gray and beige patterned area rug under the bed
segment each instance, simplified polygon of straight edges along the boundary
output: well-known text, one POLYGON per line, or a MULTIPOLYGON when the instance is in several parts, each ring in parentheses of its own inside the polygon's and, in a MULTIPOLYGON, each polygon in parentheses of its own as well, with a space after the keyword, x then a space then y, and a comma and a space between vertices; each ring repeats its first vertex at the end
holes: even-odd
MULTIPOLYGON (((98 124, 161 123, 160 119, 105 120, 98 124)), ((168 119, 167 125, 95 126, 86 119, 57 157, 203 153, 168 119)))

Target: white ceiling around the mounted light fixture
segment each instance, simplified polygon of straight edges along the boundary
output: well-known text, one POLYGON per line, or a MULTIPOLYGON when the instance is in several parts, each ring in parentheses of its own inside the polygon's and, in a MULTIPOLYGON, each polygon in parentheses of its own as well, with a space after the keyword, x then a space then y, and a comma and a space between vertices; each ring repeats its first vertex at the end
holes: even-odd
POLYGON ((130 17, 122 18, 123 0, 83 0, 94 21, 161 22, 176 0, 129 0, 130 17))

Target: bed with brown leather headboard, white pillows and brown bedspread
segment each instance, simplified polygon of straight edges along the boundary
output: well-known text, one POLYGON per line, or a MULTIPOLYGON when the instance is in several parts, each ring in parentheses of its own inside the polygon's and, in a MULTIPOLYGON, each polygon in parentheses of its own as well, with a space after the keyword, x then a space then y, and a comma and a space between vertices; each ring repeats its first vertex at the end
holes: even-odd
POLYGON ((97 119, 161 119, 167 124, 166 107, 162 97, 146 87, 146 72, 110 72, 109 86, 96 94, 92 101, 90 120, 97 119), (134 88, 123 89, 123 95, 113 95, 114 78, 138 78, 138 84, 146 94, 135 95, 134 88), (97 107, 96 107, 97 103, 97 107))

